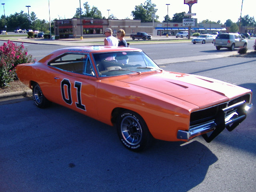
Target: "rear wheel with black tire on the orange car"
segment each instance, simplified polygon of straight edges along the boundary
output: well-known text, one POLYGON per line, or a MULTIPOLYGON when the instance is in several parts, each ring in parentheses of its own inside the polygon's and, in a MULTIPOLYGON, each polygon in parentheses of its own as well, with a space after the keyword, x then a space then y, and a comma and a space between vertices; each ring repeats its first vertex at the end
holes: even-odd
POLYGON ((33 100, 39 108, 46 108, 50 105, 50 101, 47 100, 42 93, 40 86, 36 83, 32 88, 33 100))

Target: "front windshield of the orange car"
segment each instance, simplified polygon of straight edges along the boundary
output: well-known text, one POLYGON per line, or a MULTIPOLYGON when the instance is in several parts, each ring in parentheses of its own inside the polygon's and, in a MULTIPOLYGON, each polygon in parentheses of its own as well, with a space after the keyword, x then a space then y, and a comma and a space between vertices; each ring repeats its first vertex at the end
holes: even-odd
POLYGON ((100 76, 141 74, 162 70, 144 52, 108 52, 93 54, 100 76))

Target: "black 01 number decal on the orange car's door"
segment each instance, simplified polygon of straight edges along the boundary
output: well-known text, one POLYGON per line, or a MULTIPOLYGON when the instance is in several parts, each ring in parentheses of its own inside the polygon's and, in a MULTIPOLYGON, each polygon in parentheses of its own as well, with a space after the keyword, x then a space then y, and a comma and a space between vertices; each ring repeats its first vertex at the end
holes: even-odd
MULTIPOLYGON (((74 87, 76 88, 76 96, 78 101, 76 102, 76 107, 86 111, 85 105, 82 104, 82 100, 81 100, 82 83, 75 81, 74 87)), ((69 79, 63 79, 61 81, 61 94, 62 94, 63 100, 67 104, 72 105, 73 102, 72 102, 72 96, 71 96, 71 83, 69 79), (65 90, 67 95, 65 94, 65 90)))

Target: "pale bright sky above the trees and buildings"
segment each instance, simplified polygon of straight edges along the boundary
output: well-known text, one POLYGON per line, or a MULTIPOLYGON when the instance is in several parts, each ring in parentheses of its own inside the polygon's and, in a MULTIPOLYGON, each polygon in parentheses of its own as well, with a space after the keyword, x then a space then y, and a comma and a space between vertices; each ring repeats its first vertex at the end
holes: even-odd
MULTIPOLYGON (((124 19, 126 17, 132 19, 131 12, 135 10, 136 5, 144 4, 145 0, 0 0, 4 6, 0 8, 0 15, 10 16, 15 12, 25 13, 35 12, 36 17, 40 20, 54 20, 57 19, 69 19, 76 13, 76 8, 83 8, 84 2, 88 2, 90 8, 95 6, 100 10, 102 16, 108 18, 109 14, 113 14, 117 19, 124 19), (50 4, 50 6, 49 6, 50 4), (50 7, 50 8, 49 8, 50 7), (50 14, 49 14, 50 10, 50 14), (108 11, 110 10, 110 11, 108 11)), ((159 16, 158 21, 162 22, 164 16, 168 15, 170 18, 175 13, 188 12, 189 6, 184 4, 184 0, 151 0, 152 3, 156 4, 158 11, 156 15, 159 16), (170 4, 170 5, 166 5, 170 4)), ((241 14, 242 0, 198 0, 198 3, 193 4, 191 10, 192 13, 196 13, 198 22, 209 19, 210 21, 217 22, 220 20, 222 24, 226 20, 231 19, 232 22, 237 22, 241 14)), ((242 6, 242 17, 247 14, 250 17, 256 18, 256 0, 243 0, 242 6)), ((256 19, 255 19, 256 20, 256 19)))

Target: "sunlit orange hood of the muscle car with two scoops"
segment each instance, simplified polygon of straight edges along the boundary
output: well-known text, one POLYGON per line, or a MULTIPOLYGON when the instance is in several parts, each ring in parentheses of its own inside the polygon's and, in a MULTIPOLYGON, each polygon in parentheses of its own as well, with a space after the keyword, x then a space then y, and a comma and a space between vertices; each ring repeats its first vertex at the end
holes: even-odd
POLYGON ((154 90, 166 96, 184 100, 198 107, 218 104, 249 92, 245 88, 226 82, 176 72, 139 76, 120 80, 148 90, 154 90))

